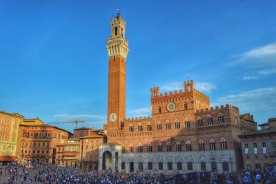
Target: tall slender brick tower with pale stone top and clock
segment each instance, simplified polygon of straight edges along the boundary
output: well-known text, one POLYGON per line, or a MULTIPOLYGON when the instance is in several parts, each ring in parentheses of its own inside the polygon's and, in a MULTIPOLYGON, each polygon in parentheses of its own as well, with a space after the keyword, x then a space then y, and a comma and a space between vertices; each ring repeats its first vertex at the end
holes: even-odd
POLYGON ((108 68, 108 133, 121 130, 126 117, 126 56, 128 41, 125 39, 126 22, 118 13, 111 19, 111 37, 106 48, 108 68))

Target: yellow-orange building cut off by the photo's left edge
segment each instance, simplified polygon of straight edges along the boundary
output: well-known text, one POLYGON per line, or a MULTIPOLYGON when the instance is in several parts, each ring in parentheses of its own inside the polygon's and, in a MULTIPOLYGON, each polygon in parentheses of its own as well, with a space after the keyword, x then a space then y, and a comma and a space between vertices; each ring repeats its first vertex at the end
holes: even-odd
POLYGON ((0 111, 0 162, 17 160, 19 124, 23 116, 19 113, 0 111))

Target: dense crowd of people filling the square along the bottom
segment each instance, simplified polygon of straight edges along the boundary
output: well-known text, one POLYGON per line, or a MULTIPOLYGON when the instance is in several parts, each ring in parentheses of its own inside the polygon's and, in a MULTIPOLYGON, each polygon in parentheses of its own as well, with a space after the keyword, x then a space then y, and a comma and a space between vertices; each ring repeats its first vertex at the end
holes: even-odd
POLYGON ((191 173, 164 175, 156 173, 119 174, 58 167, 43 163, 10 163, 0 167, 0 181, 11 183, 275 183, 273 169, 254 169, 251 172, 223 174, 191 173))

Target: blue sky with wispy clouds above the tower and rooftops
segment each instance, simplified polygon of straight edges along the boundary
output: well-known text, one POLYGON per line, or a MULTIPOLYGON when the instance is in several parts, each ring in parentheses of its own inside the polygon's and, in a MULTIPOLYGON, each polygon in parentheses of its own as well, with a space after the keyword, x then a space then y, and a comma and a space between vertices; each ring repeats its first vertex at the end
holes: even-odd
POLYGON ((101 127, 116 8, 130 47, 127 117, 150 116, 152 86, 187 78, 212 105, 276 117, 276 1, 0 1, 0 110, 101 127))

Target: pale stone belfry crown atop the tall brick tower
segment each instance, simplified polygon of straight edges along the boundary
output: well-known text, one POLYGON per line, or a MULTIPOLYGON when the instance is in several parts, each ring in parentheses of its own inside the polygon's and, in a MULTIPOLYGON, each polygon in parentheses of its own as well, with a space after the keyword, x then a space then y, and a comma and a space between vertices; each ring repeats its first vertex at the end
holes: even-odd
POLYGON ((128 41, 125 39, 126 22, 118 13, 114 19, 111 19, 111 37, 108 38, 106 48, 109 57, 121 55, 126 59, 128 55, 128 41))

